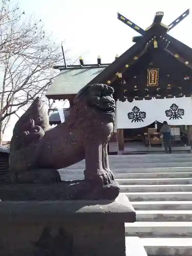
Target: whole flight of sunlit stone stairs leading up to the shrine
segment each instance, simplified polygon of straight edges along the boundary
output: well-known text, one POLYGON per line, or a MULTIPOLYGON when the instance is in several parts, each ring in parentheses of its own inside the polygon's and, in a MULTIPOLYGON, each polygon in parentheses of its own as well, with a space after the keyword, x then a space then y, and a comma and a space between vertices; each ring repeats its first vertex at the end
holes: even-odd
MULTIPOLYGON (((137 213, 126 240, 139 237, 148 256, 192 255, 192 154, 110 156, 110 166, 137 213)), ((84 161, 60 170, 82 179, 84 161)))

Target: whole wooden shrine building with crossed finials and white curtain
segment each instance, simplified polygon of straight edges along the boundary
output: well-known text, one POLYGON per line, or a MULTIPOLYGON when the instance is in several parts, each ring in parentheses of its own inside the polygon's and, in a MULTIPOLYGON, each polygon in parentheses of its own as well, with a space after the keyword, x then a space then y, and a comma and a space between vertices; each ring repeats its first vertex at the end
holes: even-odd
MULTIPOLYGON (((161 22, 163 12, 157 12, 144 30, 118 13, 121 22, 140 33, 133 37, 135 44, 112 63, 102 63, 99 56, 93 65, 79 58, 79 65, 55 66, 60 73, 46 96, 68 99, 71 106, 86 84, 106 83, 114 88, 116 100, 110 153, 162 151, 159 130, 163 121, 172 127, 173 151, 190 151, 192 49, 167 34, 188 14, 189 10, 166 26, 161 22)), ((54 112, 50 124, 58 123, 59 114, 54 112)))

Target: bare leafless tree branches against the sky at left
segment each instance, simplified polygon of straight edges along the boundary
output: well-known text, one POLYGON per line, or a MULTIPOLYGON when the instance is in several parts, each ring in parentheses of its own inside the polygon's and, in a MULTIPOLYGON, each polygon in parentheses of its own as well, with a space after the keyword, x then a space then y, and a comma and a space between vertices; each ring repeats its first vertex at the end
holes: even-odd
MULTIPOLYGON (((0 142, 2 132, 20 109, 45 92, 57 75, 53 70, 62 55, 46 36, 41 20, 33 22, 18 4, 3 0, 0 7, 0 142)), ((47 100, 48 106, 53 102, 47 100)), ((51 109, 51 108, 50 108, 51 109)))

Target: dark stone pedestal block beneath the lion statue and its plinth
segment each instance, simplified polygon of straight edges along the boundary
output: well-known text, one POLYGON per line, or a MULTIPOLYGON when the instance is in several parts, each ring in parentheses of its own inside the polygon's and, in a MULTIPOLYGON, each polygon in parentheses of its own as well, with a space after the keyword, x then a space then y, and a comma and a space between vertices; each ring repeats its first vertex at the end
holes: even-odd
POLYGON ((4 201, 1 256, 125 256, 124 222, 135 222, 129 200, 4 201))

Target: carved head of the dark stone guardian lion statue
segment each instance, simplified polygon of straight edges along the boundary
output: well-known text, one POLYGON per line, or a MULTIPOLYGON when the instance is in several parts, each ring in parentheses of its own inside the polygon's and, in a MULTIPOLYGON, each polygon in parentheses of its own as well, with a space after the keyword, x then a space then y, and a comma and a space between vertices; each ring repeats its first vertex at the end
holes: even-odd
POLYGON ((114 119, 115 100, 113 98, 114 90, 106 84, 96 83, 83 87, 74 99, 74 105, 77 108, 86 107, 89 111, 105 115, 114 119))

